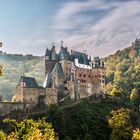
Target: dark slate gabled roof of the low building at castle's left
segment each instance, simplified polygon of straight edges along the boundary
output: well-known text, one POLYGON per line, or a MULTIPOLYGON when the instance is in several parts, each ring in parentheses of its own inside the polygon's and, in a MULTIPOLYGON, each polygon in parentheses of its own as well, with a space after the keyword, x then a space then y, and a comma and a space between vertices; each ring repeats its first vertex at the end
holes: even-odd
POLYGON ((38 87, 38 84, 33 77, 21 76, 20 82, 23 82, 25 87, 38 87))

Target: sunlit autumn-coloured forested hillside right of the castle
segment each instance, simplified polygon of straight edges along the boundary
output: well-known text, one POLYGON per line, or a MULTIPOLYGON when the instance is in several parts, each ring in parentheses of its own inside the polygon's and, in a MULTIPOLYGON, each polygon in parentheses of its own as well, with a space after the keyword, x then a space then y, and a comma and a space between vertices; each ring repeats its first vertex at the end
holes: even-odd
POLYGON ((112 96, 128 97, 132 89, 140 88, 140 40, 124 50, 104 58, 106 92, 112 96))

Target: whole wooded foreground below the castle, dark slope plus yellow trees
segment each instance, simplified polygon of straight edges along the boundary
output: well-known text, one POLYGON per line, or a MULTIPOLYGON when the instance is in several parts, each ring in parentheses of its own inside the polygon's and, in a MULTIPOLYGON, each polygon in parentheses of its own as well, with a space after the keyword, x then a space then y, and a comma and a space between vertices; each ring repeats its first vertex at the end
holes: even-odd
POLYGON ((124 100, 84 99, 43 112, 13 111, 1 118, 1 140, 139 140, 140 112, 124 100), (3 139, 2 139, 3 138, 3 139))

